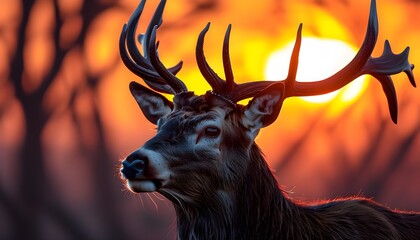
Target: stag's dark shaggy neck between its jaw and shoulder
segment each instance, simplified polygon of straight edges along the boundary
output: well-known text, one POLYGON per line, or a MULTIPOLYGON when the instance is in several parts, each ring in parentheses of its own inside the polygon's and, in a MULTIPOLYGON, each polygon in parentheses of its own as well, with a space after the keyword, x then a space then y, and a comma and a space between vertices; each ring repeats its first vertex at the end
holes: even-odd
POLYGON ((179 239, 273 239, 282 235, 282 222, 292 221, 299 207, 278 188, 256 145, 249 156, 252 164, 231 192, 204 193, 204 202, 195 206, 174 204, 179 239), (273 229, 279 229, 278 233, 273 229))

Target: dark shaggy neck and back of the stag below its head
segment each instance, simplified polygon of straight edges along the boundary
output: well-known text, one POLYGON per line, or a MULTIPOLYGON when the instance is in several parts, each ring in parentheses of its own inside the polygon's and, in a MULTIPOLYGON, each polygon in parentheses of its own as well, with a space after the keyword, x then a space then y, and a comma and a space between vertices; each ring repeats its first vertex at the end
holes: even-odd
MULTIPOLYGON (((179 205, 178 239, 418 239, 420 215, 395 212, 368 199, 319 205, 292 202, 278 187, 258 147, 230 193, 203 193, 179 205)), ((244 159, 247 161, 249 159, 244 159)))

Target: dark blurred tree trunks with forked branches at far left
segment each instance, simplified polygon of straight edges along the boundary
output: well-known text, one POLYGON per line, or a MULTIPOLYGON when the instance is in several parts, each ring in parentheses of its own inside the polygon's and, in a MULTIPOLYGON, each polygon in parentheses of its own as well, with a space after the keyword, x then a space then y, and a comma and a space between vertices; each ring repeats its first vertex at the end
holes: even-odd
MULTIPOLYGON (((34 4, 35 1, 33 0, 25 1, 24 4, 22 4, 22 21, 20 22, 18 29, 18 43, 15 55, 10 62, 10 79, 14 85, 16 99, 21 103, 22 106, 26 129, 25 137, 23 139, 24 142, 22 143, 18 156, 20 163, 18 171, 18 186, 20 190, 19 199, 21 199, 22 204, 19 208, 16 208, 20 210, 11 211, 14 208, 10 208, 10 214, 13 215, 14 219, 13 225, 15 226, 14 238, 42 239, 43 237, 39 227, 41 222, 40 218, 45 213, 49 213, 49 216, 53 217, 57 223, 63 227, 63 230, 66 231, 66 228, 68 228, 68 232, 73 232, 75 239, 88 239, 89 237, 86 237, 86 231, 83 230, 84 226, 78 226, 77 220, 71 218, 69 214, 64 210, 63 206, 56 205, 51 207, 47 206, 46 204, 46 199, 54 199, 55 193, 50 190, 51 188, 49 187, 49 182, 46 180, 46 169, 44 165, 45 156, 43 152, 41 136, 46 123, 51 119, 51 116, 55 110, 52 109, 50 112, 47 112, 43 108, 43 101, 45 93, 50 89, 50 86, 56 79, 67 53, 72 48, 83 45, 91 22, 93 22, 94 18, 99 15, 99 13, 111 7, 112 4, 108 3, 104 5, 96 1, 84 1, 84 5, 82 7, 84 25, 82 27, 81 34, 78 36, 74 45, 70 45, 69 47, 63 49, 60 46, 60 30, 63 25, 63 20, 60 16, 58 1, 53 1, 55 23, 52 32, 54 55, 52 56, 53 60, 51 62, 53 64, 50 67, 48 73, 43 77, 41 85, 31 92, 27 92, 23 86, 23 78, 30 78, 31 76, 23 76, 25 70, 25 58, 23 51, 26 44, 25 33, 27 32, 30 14, 33 11, 32 9, 34 4), (25 231, 22 231, 22 229, 25 229, 25 231)), ((97 79, 90 79, 90 81, 97 83, 97 79)), ((97 108, 95 108, 95 111, 98 111, 97 108)), ((101 138, 101 144, 105 145, 105 136, 103 133, 102 124, 100 124, 101 119, 99 117, 99 113, 94 113, 94 117, 95 119, 93 121, 101 128, 99 131, 101 135, 98 137, 101 138)), ((107 180, 101 183, 97 183, 97 186, 100 186, 102 189, 106 189, 101 192, 100 197, 97 200, 99 203, 109 203, 109 196, 113 194, 111 191, 115 190, 115 188, 107 188, 113 185, 113 174, 109 174, 109 172, 112 173, 113 167, 109 166, 109 163, 112 161, 109 159, 109 152, 104 151, 104 149, 107 149, 106 146, 101 146, 100 149, 96 149, 100 151, 101 154, 100 156, 96 157, 97 160, 95 160, 95 164, 92 165, 92 172, 97 172, 97 169, 94 168, 98 166, 101 166, 101 169, 109 167, 108 172, 101 171, 98 173, 98 175, 101 177, 99 180, 107 180), (109 160, 106 161, 108 164, 98 164, 99 161, 104 161, 104 156, 108 157, 109 160), (100 184, 105 185, 103 186, 100 184)), ((96 176, 96 178, 98 178, 98 176, 96 176)), ((11 201, 7 201, 7 198, 4 196, 2 194, 1 200, 4 200, 2 202, 4 202, 4 204, 10 204, 11 201)), ((102 207, 98 209, 98 212, 106 213, 110 212, 110 210, 113 212, 112 209, 114 206, 111 206, 111 204, 100 205, 102 207)), ((124 234, 119 227, 120 224, 118 223, 118 218, 115 216, 106 216, 106 218, 103 219, 105 222, 108 222, 105 229, 113 233, 109 236, 110 239, 116 239, 116 236, 124 237, 124 234)))

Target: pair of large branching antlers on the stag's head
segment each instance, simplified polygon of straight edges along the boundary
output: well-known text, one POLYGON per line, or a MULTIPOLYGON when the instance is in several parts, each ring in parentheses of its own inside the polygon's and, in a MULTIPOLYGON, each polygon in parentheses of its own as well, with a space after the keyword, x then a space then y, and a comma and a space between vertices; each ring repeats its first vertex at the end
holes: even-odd
MULTIPOLYGON (((139 36, 138 40, 143 47, 143 55, 136 46, 135 32, 137 22, 143 11, 145 0, 125 24, 120 36, 120 54, 124 64, 136 75, 143 78, 144 82, 152 89, 170 94, 187 92, 185 84, 175 75, 182 68, 182 61, 172 68, 166 68, 159 59, 158 42, 156 31, 162 24, 162 13, 166 0, 162 0, 147 27, 146 33, 139 36)), ((388 41, 385 41, 384 51, 378 58, 371 56, 378 37, 378 17, 376 2, 371 1, 369 21, 365 39, 360 50, 353 60, 343 69, 326 79, 315 82, 297 82, 296 73, 299 62, 299 51, 302 41, 302 24, 299 26, 295 46, 290 59, 289 74, 286 79, 280 81, 255 81, 237 84, 234 81, 232 66, 229 57, 229 37, 231 25, 229 25, 223 42, 223 67, 226 80, 220 78, 207 63, 203 45, 204 37, 210 28, 210 23, 200 33, 196 47, 198 67, 213 89, 213 93, 222 96, 230 102, 236 103, 242 99, 256 96, 259 92, 272 84, 284 85, 284 98, 293 96, 312 96, 335 91, 347 85, 357 77, 369 74, 379 80, 388 100, 388 107, 392 120, 396 123, 398 116, 398 104, 394 84, 391 75, 405 72, 415 87, 416 83, 412 70, 414 65, 408 62, 409 48, 402 53, 394 54, 388 41)))

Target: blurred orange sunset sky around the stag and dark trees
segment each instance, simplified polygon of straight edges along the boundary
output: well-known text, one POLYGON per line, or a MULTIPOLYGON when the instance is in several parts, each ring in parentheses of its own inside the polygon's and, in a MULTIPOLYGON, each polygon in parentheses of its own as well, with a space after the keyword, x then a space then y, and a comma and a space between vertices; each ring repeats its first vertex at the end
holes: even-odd
MULTIPOLYGON (((10 73, 15 67, 10 62, 19 40, 16 32, 22 5, 27 3, 25 1, 0 0, 0 188, 10 197, 18 196, 21 189, 16 176, 25 169, 18 165, 22 161, 17 159, 26 131, 24 112, 10 81, 10 73)), ((69 213, 77 216, 75 220, 80 226, 88 228, 93 223, 93 234, 96 234, 106 232, 97 225, 103 220, 102 215, 94 210, 98 205, 98 196, 102 196, 95 189, 102 181, 92 174, 95 164, 101 164, 103 160, 100 154, 96 155, 100 156, 100 163, 94 162, 97 159, 92 157, 104 150, 97 147, 102 146, 98 122, 104 124, 103 139, 109 149, 106 156, 112 159, 108 164, 115 163, 115 169, 112 169, 115 174, 104 174, 113 184, 119 184, 120 160, 142 146, 156 130, 145 119, 128 89, 130 81, 141 83, 142 80, 124 66, 118 50, 122 26, 128 21, 138 0, 88 1, 57 0, 60 20, 63 21, 58 34, 59 46, 66 49, 75 44, 75 47, 65 53, 59 71, 43 98, 43 110, 51 115, 42 129, 41 141, 45 155, 43 164, 52 188, 45 192, 57 193, 63 206, 69 207, 69 213), (93 2, 110 4, 111 7, 95 16, 90 12, 82 14, 83 3, 93 2), (89 14, 93 17, 91 24, 83 19, 89 14), (86 38, 80 40, 78 38, 85 27, 88 27, 86 38), (92 84, 92 81, 97 81, 98 85, 92 84), (96 109, 99 109, 101 121, 95 121, 96 109), (88 151, 84 152, 84 148, 88 151), (91 152, 86 153, 89 150, 91 152)), ((300 23, 303 23, 303 37, 335 39, 358 48, 366 30, 369 2, 167 0, 164 23, 157 33, 159 55, 166 66, 182 60, 184 65, 177 76, 188 89, 202 94, 209 90, 209 86, 195 60, 198 35, 208 22, 212 23, 206 35, 204 51, 212 68, 224 77, 222 42, 228 24, 232 24, 230 56, 235 81, 267 79, 265 70, 270 56, 295 40, 300 23), (197 6, 202 7, 200 11, 197 11, 197 6)), ((157 4, 158 0, 147 1, 139 33, 146 29, 157 4)), ((420 1, 377 0, 377 9, 379 37, 373 56, 378 57, 382 53, 386 39, 395 53, 410 46, 409 60, 416 65, 414 75, 419 82, 420 1)), ((24 36, 21 84, 27 94, 36 91, 51 72, 55 54, 52 31, 56 24, 54 1, 35 0, 24 36)), ((323 57, 319 57, 319 62, 323 62, 323 57)), ((287 69, 288 66, 279 65, 278 68, 287 69)), ((284 186, 282 189, 290 191, 291 197, 297 200, 364 195, 363 191, 367 191, 365 196, 375 197, 375 200, 392 208, 420 210, 416 184, 420 181, 419 89, 409 84, 405 74, 393 79, 399 103, 397 125, 389 117, 380 84, 371 78, 366 80, 362 94, 349 102, 334 99, 325 103, 310 103, 299 98, 287 99, 276 122, 263 129, 256 140, 279 184, 284 186), (402 160, 394 164, 395 159, 400 157, 402 160), (389 169, 391 171, 387 172, 389 169), (369 192, 369 187, 375 187, 378 179, 383 179, 382 189, 370 189, 369 192)), ((109 165, 101 166, 109 170, 109 165)), ((124 189, 123 184, 121 189, 124 189)), ((167 202, 157 201, 163 206, 160 206, 160 215, 157 215, 158 207, 155 207, 155 202, 148 201, 149 195, 138 198, 127 192, 112 194, 117 196, 114 202, 117 207, 105 210, 112 209, 124 215, 121 226, 132 229, 134 239, 139 232, 153 231, 145 229, 151 225, 139 224, 140 215, 148 223, 151 216, 157 216, 159 220, 166 217, 170 227, 159 226, 156 232, 168 237, 165 230, 174 231, 173 216, 169 216, 172 208, 167 202), (148 205, 152 206, 149 214, 148 205)), ((48 216, 45 219, 50 224, 51 219, 48 216)), ((7 229, 8 226, 0 224, 0 232, 2 227, 7 229)), ((46 233, 49 232, 46 230, 46 233)), ((147 236, 144 235, 145 238, 147 236)))

